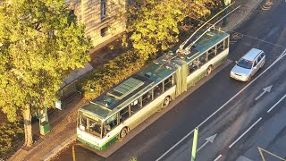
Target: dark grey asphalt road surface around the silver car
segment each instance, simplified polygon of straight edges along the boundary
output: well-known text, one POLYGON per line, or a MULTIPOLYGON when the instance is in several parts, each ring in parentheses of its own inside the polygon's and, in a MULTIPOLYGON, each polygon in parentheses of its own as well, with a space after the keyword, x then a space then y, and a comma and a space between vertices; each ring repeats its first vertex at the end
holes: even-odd
MULTIPOLYGON (((137 157, 138 160, 144 161, 158 158, 189 160, 191 131, 198 125, 198 147, 206 142, 207 137, 217 134, 213 143, 207 143, 200 149, 198 160, 214 160, 216 157, 218 160, 236 160, 241 156, 261 160, 257 147, 285 157, 286 109, 283 106, 286 99, 277 102, 286 94, 286 57, 273 64, 286 47, 286 3, 279 2, 268 11, 258 8, 239 29, 231 31, 231 61, 238 60, 251 47, 265 51, 267 60, 264 69, 256 75, 264 72, 259 78, 254 78, 250 83, 232 80, 229 73, 234 63, 225 65, 212 79, 182 99, 110 157, 100 157, 87 149, 76 147, 76 158, 129 160, 130 157, 137 157), (265 71, 271 64, 273 66, 265 71), (265 93, 256 101, 255 98, 270 85, 273 85, 271 92, 265 93), (233 97, 235 95, 236 97, 233 97), (276 103, 273 110, 267 113, 276 103), (221 110, 214 114, 220 108, 221 110), (212 114, 214 116, 203 123, 212 114), (243 133, 245 134, 242 135, 243 133), (185 137, 188 134, 189 137, 185 137), (184 137, 186 139, 181 140, 184 137), (173 147, 176 143, 178 145, 173 147), (232 143, 234 144, 231 146, 232 143), (170 152, 165 153, 168 150, 170 152)), ((71 159, 71 148, 67 148, 57 157, 57 160, 71 159)), ((273 157, 271 159, 274 160, 273 157)))

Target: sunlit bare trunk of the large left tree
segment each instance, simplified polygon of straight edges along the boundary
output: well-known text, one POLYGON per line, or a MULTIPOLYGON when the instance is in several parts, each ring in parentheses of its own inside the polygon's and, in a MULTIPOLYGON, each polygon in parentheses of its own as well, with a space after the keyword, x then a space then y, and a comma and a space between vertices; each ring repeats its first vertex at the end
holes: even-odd
POLYGON ((23 112, 24 117, 24 131, 25 131, 25 143, 24 146, 31 147, 33 144, 32 138, 32 125, 31 125, 31 114, 30 106, 27 105, 23 112))

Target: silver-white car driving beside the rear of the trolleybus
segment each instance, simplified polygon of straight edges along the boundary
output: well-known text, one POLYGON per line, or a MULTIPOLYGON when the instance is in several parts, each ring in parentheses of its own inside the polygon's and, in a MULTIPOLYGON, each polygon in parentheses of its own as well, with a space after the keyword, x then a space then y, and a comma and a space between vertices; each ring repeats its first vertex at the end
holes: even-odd
POLYGON ((241 81, 249 81, 252 76, 265 65, 265 52, 251 48, 243 55, 231 70, 231 78, 241 81))

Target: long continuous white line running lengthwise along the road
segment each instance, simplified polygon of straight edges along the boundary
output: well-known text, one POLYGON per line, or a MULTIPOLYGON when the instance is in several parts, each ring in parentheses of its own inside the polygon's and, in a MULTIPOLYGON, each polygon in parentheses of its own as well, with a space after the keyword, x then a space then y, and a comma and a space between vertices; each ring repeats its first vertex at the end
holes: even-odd
MULTIPOLYGON (((257 76, 257 78, 255 78, 255 79, 253 79, 252 81, 250 81, 250 82, 248 83, 248 85, 246 85, 243 89, 240 89, 240 91, 239 91, 237 94, 235 94, 233 97, 231 97, 230 100, 228 100, 227 102, 225 102, 225 103, 223 104, 223 106, 221 106, 220 108, 218 108, 213 114, 211 114, 210 116, 208 116, 204 122, 198 124, 197 127, 199 127, 199 126, 201 126, 202 124, 206 123, 211 117, 214 116, 214 114, 216 114, 216 113, 218 113, 220 110, 222 110, 223 107, 226 106, 228 103, 230 103, 233 98, 235 98, 235 97, 237 97, 238 95, 240 95, 240 93, 241 93, 243 90, 247 89, 248 86, 250 86, 255 80, 257 80, 259 77, 261 77, 261 76, 262 76, 266 71, 268 71, 274 64, 276 64, 279 60, 281 60, 284 55, 286 55, 286 49, 285 49, 285 50, 282 52, 282 54, 273 62, 273 64, 269 65, 268 68, 265 69, 265 71, 261 72, 261 73, 257 76)), ((167 155, 173 148, 177 147, 183 140, 185 140, 186 138, 188 138, 189 135, 190 135, 193 131, 194 131, 194 130, 189 131, 189 133, 188 133, 186 136, 184 136, 184 137, 183 137, 181 140, 179 140, 175 145, 173 145, 170 149, 168 149, 166 152, 164 152, 164 154, 163 154, 161 157, 158 157, 158 158, 156 159, 156 161, 159 161, 159 160, 162 159, 165 155, 167 155)))

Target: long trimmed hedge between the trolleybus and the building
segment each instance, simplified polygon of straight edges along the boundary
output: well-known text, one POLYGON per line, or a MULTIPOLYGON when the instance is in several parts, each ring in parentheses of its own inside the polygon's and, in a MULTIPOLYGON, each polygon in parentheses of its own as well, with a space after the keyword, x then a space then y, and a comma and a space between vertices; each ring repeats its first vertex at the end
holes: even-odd
POLYGON ((135 50, 130 50, 120 56, 110 60, 107 64, 99 66, 95 71, 89 73, 79 82, 84 91, 84 98, 93 99, 98 97, 105 90, 110 89, 115 84, 130 76, 133 72, 145 64, 135 50), (94 91, 90 91, 90 87, 94 91))

